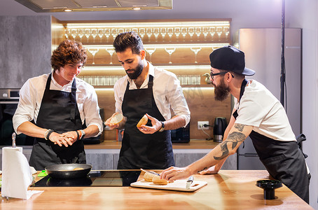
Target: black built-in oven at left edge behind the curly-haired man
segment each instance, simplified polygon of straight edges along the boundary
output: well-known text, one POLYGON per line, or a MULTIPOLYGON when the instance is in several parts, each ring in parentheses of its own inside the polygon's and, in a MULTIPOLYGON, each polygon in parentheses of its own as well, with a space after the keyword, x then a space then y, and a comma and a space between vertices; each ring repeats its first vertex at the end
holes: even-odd
MULTIPOLYGON (((12 118, 18 107, 20 89, 0 89, 0 146, 12 145, 12 118)), ((19 134, 15 138, 17 146, 33 145, 34 138, 19 134)))

